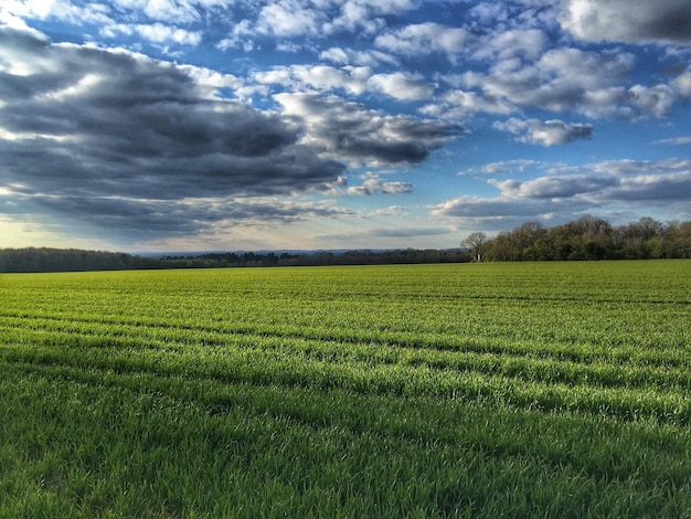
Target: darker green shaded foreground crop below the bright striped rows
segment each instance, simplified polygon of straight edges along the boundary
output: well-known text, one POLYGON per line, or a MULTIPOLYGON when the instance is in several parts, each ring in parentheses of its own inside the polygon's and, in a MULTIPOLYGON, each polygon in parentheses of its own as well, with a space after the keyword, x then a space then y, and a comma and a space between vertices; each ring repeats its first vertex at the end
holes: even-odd
POLYGON ((0 515, 680 517, 689 505, 689 434, 670 425, 40 364, 3 373, 3 453, 21 454, 3 459, 0 515))

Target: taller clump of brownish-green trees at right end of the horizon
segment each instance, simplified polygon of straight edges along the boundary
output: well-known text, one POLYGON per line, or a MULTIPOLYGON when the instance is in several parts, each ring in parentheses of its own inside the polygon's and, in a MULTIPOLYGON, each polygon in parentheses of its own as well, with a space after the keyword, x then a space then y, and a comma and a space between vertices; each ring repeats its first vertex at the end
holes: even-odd
POLYGON ((614 226, 606 220, 584 215, 545 227, 530 221, 491 239, 475 232, 461 246, 470 251, 472 261, 488 262, 688 258, 691 222, 662 223, 646 216, 614 226))

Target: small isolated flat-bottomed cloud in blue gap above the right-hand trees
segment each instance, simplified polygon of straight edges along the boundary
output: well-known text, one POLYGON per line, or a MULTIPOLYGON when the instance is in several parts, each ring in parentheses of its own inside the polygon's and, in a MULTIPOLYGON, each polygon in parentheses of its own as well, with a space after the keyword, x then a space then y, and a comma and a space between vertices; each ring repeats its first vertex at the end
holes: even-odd
POLYGON ((593 126, 584 124, 566 124, 563 120, 538 119, 521 120, 514 117, 506 121, 495 123, 495 128, 519 135, 515 140, 532 145, 565 145, 575 140, 589 139, 593 126))

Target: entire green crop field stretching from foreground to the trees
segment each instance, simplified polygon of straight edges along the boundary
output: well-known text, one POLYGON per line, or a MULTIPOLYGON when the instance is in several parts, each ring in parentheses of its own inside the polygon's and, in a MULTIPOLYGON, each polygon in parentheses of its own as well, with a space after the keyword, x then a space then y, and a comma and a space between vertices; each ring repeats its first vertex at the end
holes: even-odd
POLYGON ((691 517, 689 261, 0 275, 0 517, 691 517))

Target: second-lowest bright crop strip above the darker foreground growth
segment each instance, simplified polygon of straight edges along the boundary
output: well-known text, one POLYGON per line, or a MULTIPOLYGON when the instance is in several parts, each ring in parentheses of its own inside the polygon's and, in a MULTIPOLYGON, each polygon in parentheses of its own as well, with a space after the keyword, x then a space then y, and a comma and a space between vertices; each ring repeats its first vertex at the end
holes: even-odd
MULTIPOLYGON (((0 327, 0 331, 2 328, 0 327)), ((588 384, 608 388, 678 388, 691 389, 691 372, 685 367, 613 364, 610 361, 574 362, 550 357, 507 356, 475 351, 448 351, 424 348, 387 346, 375 342, 350 343, 311 339, 286 339, 281 337, 246 335, 193 335, 180 331, 176 335, 153 333, 127 336, 118 328, 107 328, 109 335, 56 331, 54 329, 7 330, 3 335, 14 343, 71 348, 79 354, 85 348, 116 348, 119 350, 161 350, 169 354, 188 353, 211 358, 228 358, 234 352, 248 350, 253 354, 273 354, 330 363, 398 364, 423 367, 430 370, 455 370, 458 372, 482 372, 503 377, 561 382, 566 384, 588 384)), ((130 330, 131 331, 131 330, 130 330)), ((156 353, 158 354, 158 353, 156 353)))

